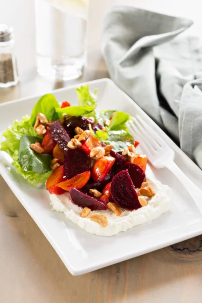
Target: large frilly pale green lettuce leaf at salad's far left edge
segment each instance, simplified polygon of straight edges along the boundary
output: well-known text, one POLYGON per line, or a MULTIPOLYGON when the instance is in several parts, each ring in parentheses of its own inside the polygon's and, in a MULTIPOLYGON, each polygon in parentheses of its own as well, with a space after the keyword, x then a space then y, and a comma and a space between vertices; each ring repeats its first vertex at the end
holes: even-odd
POLYGON ((13 159, 12 165, 16 167, 16 172, 35 186, 46 181, 49 175, 52 174, 52 171, 43 174, 34 173, 31 171, 26 172, 23 170, 18 161, 20 138, 23 135, 38 137, 30 122, 30 117, 25 116, 21 121, 15 121, 13 126, 9 126, 2 135, 6 138, 6 140, 1 143, 0 149, 6 151, 6 153, 11 156, 13 159))

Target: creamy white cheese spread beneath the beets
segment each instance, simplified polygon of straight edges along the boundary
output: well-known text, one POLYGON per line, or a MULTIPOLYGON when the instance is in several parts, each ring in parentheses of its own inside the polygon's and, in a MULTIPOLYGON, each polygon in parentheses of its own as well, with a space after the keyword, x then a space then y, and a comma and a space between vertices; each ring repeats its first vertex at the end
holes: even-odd
POLYGON ((117 217, 111 210, 91 211, 90 214, 103 214, 108 218, 108 226, 102 228, 98 223, 90 221, 88 217, 81 218, 82 208, 73 204, 70 194, 50 194, 52 210, 63 212, 65 216, 87 232, 99 236, 112 236, 120 231, 126 231, 133 226, 152 221, 171 208, 171 189, 160 181, 146 178, 156 195, 148 199, 148 205, 136 211, 122 209, 122 214, 117 217))

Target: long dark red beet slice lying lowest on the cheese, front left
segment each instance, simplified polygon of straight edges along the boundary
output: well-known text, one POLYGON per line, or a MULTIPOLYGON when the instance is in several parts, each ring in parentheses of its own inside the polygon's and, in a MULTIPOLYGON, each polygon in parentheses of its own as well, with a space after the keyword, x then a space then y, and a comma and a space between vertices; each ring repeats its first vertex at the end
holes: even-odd
POLYGON ((73 203, 82 208, 88 207, 91 209, 91 211, 106 211, 108 209, 107 205, 105 205, 98 198, 87 194, 81 189, 71 188, 69 193, 73 203))

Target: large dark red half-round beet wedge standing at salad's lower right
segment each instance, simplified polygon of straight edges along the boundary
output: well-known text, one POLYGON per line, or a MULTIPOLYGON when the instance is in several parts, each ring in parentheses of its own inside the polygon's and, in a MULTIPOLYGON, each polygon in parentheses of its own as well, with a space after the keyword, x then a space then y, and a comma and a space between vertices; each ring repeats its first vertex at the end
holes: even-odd
POLYGON ((126 210, 141 208, 132 179, 128 170, 119 172, 111 183, 111 194, 115 203, 126 210))

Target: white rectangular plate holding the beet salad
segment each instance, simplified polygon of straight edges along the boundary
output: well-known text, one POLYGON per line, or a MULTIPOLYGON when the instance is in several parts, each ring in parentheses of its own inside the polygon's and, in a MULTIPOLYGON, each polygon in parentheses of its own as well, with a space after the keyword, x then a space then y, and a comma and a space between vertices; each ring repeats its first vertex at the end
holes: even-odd
MULTIPOLYGON (((98 89, 98 109, 116 109, 132 116, 140 115, 174 149, 176 164, 196 185, 201 186, 202 171, 113 81, 101 79, 89 84, 91 90, 98 89)), ((68 100, 72 105, 77 105, 76 86, 55 90, 53 94, 59 102, 68 100)), ((0 133, 14 120, 30 114, 39 97, 0 105, 0 133)), ((2 136, 0 140, 3 140, 2 136)), ((33 188, 13 169, 8 169, 11 164, 5 155, 0 153, 0 173, 72 275, 81 275, 134 258, 202 233, 202 216, 194 201, 167 169, 153 169, 153 172, 162 183, 173 189, 171 211, 116 236, 100 237, 80 229, 64 214, 51 211, 46 190, 33 188)))

